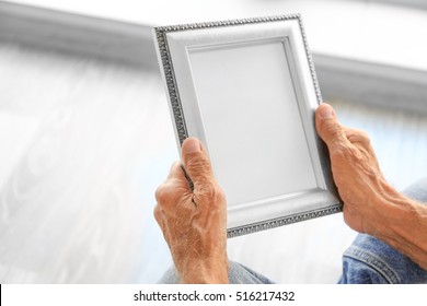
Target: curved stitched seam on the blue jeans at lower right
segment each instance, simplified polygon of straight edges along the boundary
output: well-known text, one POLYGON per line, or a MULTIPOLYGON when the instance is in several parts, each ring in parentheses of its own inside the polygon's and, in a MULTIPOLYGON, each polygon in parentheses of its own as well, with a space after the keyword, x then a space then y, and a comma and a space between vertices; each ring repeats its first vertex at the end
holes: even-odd
POLYGON ((351 246, 344 252, 344 257, 353 258, 357 261, 363 262, 381 274, 391 284, 400 283, 400 279, 393 269, 385 261, 381 260, 381 258, 369 251, 351 246))

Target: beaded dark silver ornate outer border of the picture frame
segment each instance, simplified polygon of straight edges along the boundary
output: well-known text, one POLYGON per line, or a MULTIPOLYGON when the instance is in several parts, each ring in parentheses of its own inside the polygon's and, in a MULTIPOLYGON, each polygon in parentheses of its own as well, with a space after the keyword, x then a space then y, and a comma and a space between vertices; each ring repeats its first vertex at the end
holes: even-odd
MULTIPOLYGON (((176 126, 177 136, 180 139, 180 144, 182 144, 184 140, 188 137, 188 132, 186 129, 185 117, 181 104, 180 92, 176 85, 176 79, 175 79, 169 45, 168 45, 166 34, 172 32, 180 32, 180 31, 196 31, 196 30, 209 28, 209 27, 239 26, 244 24, 279 22, 286 20, 297 20, 299 23, 301 35, 303 38, 305 55, 310 67, 311 78, 316 94, 316 99, 318 103, 321 104, 322 95, 319 87, 319 82, 318 82, 318 76, 315 74, 313 60, 309 51, 307 35, 304 32, 304 27, 302 25, 302 19, 300 14, 275 15, 275 16, 240 19, 240 20, 226 20, 226 21, 192 23, 192 24, 178 24, 178 25, 159 26, 153 28, 154 39, 157 40, 157 46, 159 48, 161 66, 163 68, 164 78, 168 86, 168 93, 172 104, 172 111, 173 111, 173 117, 176 126)), ((324 146, 324 144, 321 144, 321 146, 324 146)), ((327 152, 327 150, 325 152, 327 152)), ((236 237, 236 236, 251 234, 264 229, 269 229, 282 225, 288 225, 288 224, 292 224, 292 223, 297 223, 297 222, 301 222, 301 221, 305 221, 319 216, 330 215, 342 211, 343 211, 342 204, 331 205, 326 209, 312 210, 304 213, 298 213, 285 217, 269 220, 266 222, 258 222, 258 223, 247 224, 245 226, 229 228, 227 231, 227 236, 229 238, 236 237)))

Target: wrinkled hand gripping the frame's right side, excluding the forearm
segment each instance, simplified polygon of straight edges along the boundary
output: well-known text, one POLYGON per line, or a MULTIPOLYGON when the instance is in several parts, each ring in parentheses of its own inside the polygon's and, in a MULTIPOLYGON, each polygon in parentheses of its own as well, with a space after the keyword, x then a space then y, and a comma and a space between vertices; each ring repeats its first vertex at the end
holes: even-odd
POLYGON ((382 197, 394 193, 381 174, 368 136, 342 126, 333 108, 321 105, 316 130, 326 143, 334 181, 344 201, 344 220, 355 231, 374 234, 382 197))

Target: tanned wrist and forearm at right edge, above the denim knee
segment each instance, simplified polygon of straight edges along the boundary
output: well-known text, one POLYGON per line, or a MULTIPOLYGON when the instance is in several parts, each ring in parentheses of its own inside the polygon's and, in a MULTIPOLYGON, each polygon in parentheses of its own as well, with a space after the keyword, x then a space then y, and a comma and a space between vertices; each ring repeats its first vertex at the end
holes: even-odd
POLYGON ((427 205, 390 186, 378 197, 381 215, 372 223, 371 235, 409 257, 427 270, 427 205))

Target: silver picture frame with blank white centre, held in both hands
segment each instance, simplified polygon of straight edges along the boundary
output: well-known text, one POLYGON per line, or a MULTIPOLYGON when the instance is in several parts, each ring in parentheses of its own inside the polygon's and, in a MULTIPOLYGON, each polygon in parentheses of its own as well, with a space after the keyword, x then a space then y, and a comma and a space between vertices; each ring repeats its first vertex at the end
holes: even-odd
POLYGON ((204 143, 228 237, 342 211, 299 14, 160 26, 153 37, 180 154, 187 137, 204 143))

